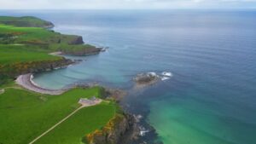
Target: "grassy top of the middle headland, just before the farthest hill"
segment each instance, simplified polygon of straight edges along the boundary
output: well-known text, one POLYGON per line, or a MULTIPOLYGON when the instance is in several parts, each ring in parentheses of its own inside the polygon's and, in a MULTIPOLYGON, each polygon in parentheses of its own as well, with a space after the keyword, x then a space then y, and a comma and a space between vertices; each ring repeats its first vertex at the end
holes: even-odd
POLYGON ((57 50, 76 51, 94 49, 90 44, 70 44, 79 36, 63 35, 40 27, 16 27, 0 25, 0 43, 26 44, 46 52, 57 50))

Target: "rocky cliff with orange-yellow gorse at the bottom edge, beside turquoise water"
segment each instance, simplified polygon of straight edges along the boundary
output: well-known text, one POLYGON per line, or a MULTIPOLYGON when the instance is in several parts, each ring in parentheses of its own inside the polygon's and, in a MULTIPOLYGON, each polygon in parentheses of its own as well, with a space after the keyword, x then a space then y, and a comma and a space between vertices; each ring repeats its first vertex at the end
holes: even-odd
POLYGON ((130 114, 117 114, 102 130, 86 135, 88 144, 129 144, 138 135, 136 120, 130 114))

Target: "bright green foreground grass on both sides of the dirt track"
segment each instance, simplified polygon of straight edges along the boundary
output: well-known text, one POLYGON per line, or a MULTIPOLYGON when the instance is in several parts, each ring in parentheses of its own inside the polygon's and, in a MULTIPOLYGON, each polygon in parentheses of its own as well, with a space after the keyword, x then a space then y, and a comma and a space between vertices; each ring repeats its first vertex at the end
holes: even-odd
MULTIPOLYGON (((101 88, 71 89, 55 96, 40 95, 24 89, 5 89, 0 95, 0 143, 26 144, 32 141, 78 108, 79 98, 93 95, 99 97, 101 88)), ((85 135, 90 130, 101 128, 113 117, 114 112, 112 103, 83 108, 72 118, 67 119, 67 123, 61 124, 60 128, 54 130, 53 135, 62 135, 62 133, 69 135, 69 130, 73 128, 77 132, 73 134, 72 140, 81 140, 82 133, 85 135)), ((42 141, 52 141, 53 138, 47 136, 42 141)))

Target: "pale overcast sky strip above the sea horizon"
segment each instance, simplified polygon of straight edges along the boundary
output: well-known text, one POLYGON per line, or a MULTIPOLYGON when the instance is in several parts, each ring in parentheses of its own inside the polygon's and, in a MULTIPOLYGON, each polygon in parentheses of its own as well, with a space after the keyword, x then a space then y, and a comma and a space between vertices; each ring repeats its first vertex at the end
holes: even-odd
POLYGON ((255 9, 256 0, 0 0, 0 9, 255 9))

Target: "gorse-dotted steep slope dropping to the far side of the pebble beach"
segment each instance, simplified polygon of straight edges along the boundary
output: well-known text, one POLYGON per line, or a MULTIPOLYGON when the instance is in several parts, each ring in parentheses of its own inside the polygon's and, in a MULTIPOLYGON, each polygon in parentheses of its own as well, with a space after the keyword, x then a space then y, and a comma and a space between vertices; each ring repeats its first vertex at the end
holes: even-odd
POLYGON ((5 75, 13 78, 20 74, 26 74, 30 72, 50 71, 54 68, 67 66, 72 63, 72 60, 67 60, 65 58, 62 58, 60 60, 16 62, 9 65, 0 65, 0 75, 5 75))

